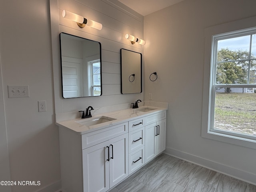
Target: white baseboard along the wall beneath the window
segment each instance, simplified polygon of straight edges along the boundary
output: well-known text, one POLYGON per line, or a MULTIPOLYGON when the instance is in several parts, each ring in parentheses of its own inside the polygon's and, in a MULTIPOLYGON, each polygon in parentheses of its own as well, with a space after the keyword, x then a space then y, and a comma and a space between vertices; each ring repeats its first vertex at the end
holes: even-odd
POLYGON ((166 150, 164 151, 164 153, 182 160, 186 160, 188 162, 192 162, 194 164, 208 168, 210 170, 214 170, 216 172, 231 176, 233 178, 242 180, 244 182, 248 182, 250 184, 256 185, 256 175, 250 172, 245 172, 243 170, 226 166, 224 164, 220 164, 218 162, 214 162, 214 161, 201 158, 199 156, 195 156, 195 155, 182 152, 169 147, 166 147, 166 150))

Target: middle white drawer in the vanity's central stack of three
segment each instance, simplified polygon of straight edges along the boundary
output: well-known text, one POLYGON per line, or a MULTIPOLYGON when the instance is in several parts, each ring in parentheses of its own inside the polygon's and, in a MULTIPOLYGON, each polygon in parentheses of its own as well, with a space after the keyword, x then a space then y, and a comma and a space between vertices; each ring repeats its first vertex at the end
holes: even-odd
POLYGON ((129 153, 144 146, 145 127, 129 132, 129 153))

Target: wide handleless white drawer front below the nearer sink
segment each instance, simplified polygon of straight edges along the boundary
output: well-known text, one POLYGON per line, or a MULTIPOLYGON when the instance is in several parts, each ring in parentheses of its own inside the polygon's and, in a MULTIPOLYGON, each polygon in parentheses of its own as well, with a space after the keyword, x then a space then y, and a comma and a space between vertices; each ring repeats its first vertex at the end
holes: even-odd
POLYGON ((82 149, 128 133, 128 122, 103 128, 82 135, 82 149))

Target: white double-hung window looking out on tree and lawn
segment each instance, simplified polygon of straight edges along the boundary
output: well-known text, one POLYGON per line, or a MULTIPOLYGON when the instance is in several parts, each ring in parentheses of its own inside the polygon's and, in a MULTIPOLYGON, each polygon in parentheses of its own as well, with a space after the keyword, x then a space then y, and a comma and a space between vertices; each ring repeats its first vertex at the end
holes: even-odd
POLYGON ((208 133, 256 140, 256 28, 212 36, 208 133))

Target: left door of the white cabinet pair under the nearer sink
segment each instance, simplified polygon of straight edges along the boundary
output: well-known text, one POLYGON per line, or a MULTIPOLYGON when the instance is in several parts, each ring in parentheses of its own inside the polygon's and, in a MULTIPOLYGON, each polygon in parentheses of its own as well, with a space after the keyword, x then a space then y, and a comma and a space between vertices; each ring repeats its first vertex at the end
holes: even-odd
POLYGON ((108 141, 82 150, 84 192, 105 192, 109 189, 108 141))

